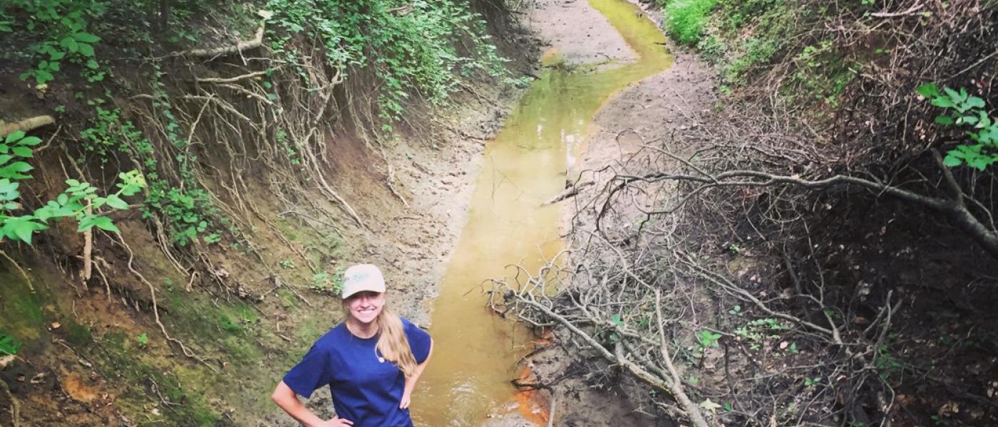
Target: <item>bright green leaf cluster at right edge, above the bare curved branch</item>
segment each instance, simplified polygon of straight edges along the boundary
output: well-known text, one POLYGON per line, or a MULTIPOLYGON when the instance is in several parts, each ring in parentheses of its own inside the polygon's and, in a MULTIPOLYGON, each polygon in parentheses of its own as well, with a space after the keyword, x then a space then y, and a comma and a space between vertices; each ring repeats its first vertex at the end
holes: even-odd
POLYGON ((945 165, 967 165, 984 170, 998 161, 998 119, 988 114, 984 100, 970 96, 963 88, 939 91, 934 83, 919 86, 916 92, 930 100, 933 106, 947 110, 948 113, 935 117, 936 123, 971 127, 966 135, 973 143, 963 143, 947 151, 943 159, 945 165))

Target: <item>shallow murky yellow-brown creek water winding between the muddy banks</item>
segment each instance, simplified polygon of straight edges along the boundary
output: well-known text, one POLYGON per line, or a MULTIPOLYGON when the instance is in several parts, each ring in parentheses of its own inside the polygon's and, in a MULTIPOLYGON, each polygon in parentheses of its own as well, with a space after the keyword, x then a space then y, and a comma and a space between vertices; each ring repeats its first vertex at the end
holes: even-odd
MULTIPOLYGON (((413 395, 417 425, 476 426, 516 401, 509 380, 522 369, 517 361, 530 350, 531 336, 485 307, 481 285, 509 276, 511 264, 536 272, 561 251, 562 207, 541 204, 564 189, 599 108, 616 92, 672 64, 665 37, 637 6, 626 0, 590 4, 640 59, 593 73, 549 67, 486 145, 468 222, 433 305, 433 360, 413 395)), ((557 56, 549 52, 545 58, 557 56)), ((520 410, 535 421, 547 415, 535 416, 531 411, 537 408, 530 405, 521 404, 520 410)))

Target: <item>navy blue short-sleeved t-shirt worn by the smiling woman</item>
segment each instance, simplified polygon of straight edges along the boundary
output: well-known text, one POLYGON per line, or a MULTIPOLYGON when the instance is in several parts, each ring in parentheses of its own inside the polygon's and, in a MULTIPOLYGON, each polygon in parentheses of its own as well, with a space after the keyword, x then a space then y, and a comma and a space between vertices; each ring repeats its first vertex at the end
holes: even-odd
MULTIPOLYGON (((402 319, 416 363, 429 356, 430 335, 402 319)), ((378 335, 360 338, 339 323, 312 344, 298 364, 284 375, 284 383, 309 397, 328 384, 336 415, 353 427, 411 427, 408 409, 399 409, 405 376, 377 352, 378 335), (383 360, 383 361, 382 361, 383 360)))

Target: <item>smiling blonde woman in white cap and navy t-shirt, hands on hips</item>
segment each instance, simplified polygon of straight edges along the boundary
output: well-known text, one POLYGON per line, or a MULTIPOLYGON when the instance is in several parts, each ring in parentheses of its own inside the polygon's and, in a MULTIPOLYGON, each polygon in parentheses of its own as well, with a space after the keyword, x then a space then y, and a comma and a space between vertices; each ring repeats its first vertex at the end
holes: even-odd
POLYGON ((433 349, 430 335, 385 307, 384 276, 361 264, 343 274, 345 321, 322 335, 270 398, 308 427, 412 427, 409 399, 433 349), (337 418, 298 400, 329 385, 337 418))

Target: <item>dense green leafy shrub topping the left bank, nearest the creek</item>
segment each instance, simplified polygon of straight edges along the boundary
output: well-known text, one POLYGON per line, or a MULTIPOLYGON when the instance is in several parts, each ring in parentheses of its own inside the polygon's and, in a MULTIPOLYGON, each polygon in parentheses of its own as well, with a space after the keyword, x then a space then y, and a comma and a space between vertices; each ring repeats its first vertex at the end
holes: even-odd
MULTIPOLYGON (((431 104, 443 102, 460 76, 476 70, 499 77, 503 60, 486 34, 481 16, 452 0, 269 0, 275 35, 271 49, 290 58, 289 35, 304 34, 325 46, 333 68, 367 68, 380 81, 377 105, 386 121, 401 117, 414 91, 431 104), (465 41, 473 47, 461 52, 465 41)), ((390 128, 390 127, 388 127, 390 128)))

